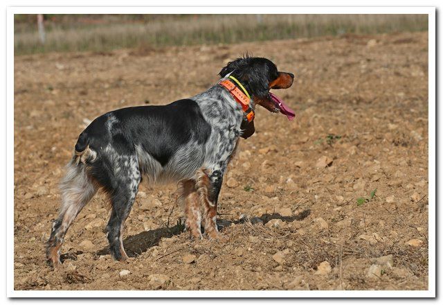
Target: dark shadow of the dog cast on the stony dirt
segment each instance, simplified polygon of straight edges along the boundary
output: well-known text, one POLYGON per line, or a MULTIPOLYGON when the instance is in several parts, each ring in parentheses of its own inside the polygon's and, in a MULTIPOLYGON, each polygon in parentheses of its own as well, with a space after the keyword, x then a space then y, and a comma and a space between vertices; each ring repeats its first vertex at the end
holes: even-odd
MULTIPOLYGON (((252 217, 247 218, 243 217, 239 220, 230 221, 226 219, 220 219, 217 220, 217 227, 220 231, 223 231, 224 227, 229 227, 230 225, 239 224, 239 223, 246 223, 251 222, 252 224, 255 223, 263 223, 264 225, 268 223, 270 220, 273 219, 280 219, 284 221, 285 223, 290 223, 294 220, 303 220, 307 218, 311 214, 311 210, 306 209, 305 211, 302 211, 300 214, 294 215, 294 216, 282 216, 278 213, 273 214, 263 214, 260 217, 252 217)), ((133 236, 128 236, 123 240, 123 246, 125 247, 127 256, 129 257, 135 257, 138 256, 147 250, 150 249, 150 247, 154 247, 155 245, 159 245, 161 238, 171 238, 172 236, 176 236, 181 234, 184 231, 185 227, 182 223, 177 223, 177 225, 174 225, 174 227, 161 227, 159 229, 153 229, 150 231, 145 231, 138 233, 133 236)), ((75 252, 75 255, 72 253, 66 253, 62 254, 62 259, 76 259, 76 254, 81 254, 82 252, 75 252)), ((102 250, 99 250, 96 252, 97 255, 106 255, 109 254, 109 249, 103 248, 102 250)))

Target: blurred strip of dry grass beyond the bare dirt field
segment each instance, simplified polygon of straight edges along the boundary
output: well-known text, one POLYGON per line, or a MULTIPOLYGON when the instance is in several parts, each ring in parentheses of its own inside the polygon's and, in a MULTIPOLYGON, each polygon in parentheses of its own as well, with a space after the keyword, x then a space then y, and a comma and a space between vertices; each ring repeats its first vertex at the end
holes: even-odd
POLYGON ((15 15, 15 55, 428 30, 427 15, 15 15))

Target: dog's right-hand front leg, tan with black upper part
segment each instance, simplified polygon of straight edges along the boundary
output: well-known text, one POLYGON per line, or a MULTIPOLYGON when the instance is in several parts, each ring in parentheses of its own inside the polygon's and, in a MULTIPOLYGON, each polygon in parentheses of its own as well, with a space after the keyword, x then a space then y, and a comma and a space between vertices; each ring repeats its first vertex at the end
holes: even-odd
POLYGON ((226 239, 217 229, 217 200, 223 182, 223 172, 220 170, 208 174, 201 169, 197 173, 197 194, 203 210, 205 234, 210 239, 226 239))

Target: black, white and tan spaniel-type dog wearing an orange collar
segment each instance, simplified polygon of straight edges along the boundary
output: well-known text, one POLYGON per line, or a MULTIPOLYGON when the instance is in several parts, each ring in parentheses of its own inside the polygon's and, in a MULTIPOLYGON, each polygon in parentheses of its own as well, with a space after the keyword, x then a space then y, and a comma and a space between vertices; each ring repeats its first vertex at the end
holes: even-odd
POLYGON ((223 238, 217 230, 217 199, 239 137, 255 132, 255 107, 295 114, 270 89, 291 87, 292 73, 271 60, 248 55, 228 62, 221 80, 206 92, 169 105, 127 107, 99 116, 83 130, 60 183, 62 204, 53 220, 46 259, 56 266, 66 231, 98 189, 109 196, 106 232, 114 259, 124 261, 123 225, 142 177, 178 182, 191 238, 223 238))

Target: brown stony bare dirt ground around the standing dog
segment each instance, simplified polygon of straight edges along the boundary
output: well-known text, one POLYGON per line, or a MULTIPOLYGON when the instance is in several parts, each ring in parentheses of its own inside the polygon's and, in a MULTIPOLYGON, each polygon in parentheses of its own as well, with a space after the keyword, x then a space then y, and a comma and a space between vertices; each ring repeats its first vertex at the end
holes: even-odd
POLYGON ((16 57, 15 289, 427 290, 427 37, 16 57), (57 184, 87 121, 203 92, 246 51, 296 74, 275 93, 297 116, 257 110, 256 133, 241 140, 221 189, 229 241, 190 241, 176 186, 145 183, 126 222, 127 263, 107 253, 99 193, 51 270, 44 249, 57 184))

